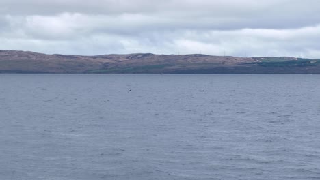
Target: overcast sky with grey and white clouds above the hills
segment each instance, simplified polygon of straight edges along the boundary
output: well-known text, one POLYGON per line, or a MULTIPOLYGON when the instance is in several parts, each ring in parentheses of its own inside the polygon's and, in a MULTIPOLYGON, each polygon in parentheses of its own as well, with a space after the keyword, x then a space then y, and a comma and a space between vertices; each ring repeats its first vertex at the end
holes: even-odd
POLYGON ((0 50, 320 58, 320 1, 0 0, 0 50))

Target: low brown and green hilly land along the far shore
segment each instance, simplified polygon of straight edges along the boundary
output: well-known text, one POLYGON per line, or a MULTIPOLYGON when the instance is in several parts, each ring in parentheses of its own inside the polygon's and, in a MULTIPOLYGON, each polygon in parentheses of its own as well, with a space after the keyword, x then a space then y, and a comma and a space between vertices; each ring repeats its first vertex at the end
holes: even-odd
POLYGON ((320 74, 320 59, 211 55, 46 55, 0 50, 0 73, 320 74))

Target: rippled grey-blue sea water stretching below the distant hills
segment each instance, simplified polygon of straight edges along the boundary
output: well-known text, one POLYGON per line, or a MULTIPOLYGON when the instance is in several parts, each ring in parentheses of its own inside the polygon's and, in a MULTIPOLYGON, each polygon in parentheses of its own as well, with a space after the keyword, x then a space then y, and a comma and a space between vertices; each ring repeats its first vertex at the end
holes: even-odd
POLYGON ((319 82, 0 74, 0 179, 320 179, 319 82))

